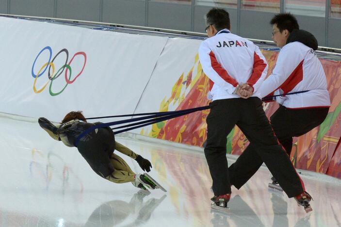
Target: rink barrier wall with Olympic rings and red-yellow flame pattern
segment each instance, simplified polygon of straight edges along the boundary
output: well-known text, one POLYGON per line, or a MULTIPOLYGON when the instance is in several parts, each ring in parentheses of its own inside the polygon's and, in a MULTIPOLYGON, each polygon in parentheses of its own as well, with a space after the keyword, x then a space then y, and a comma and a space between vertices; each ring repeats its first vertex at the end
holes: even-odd
MULTIPOLYGON (((209 80, 197 54, 200 40, 5 17, 0 17, 0 28, 2 44, 6 44, 0 53, 0 112, 45 116, 58 122, 71 110, 93 117, 209 104, 209 80), (31 34, 38 34, 39 39, 31 34)), ((278 52, 262 52, 269 63, 269 75, 278 52)), ((337 146, 341 136, 341 62, 321 62, 332 105, 320 127, 295 138, 291 158, 299 169, 341 178, 341 150, 337 146)), ((276 103, 264 105, 268 117, 276 108, 276 103)), ((202 151, 208 114, 209 110, 188 114, 132 132, 202 151)), ((227 154, 239 155, 247 145, 244 134, 235 127, 227 137, 227 154)))

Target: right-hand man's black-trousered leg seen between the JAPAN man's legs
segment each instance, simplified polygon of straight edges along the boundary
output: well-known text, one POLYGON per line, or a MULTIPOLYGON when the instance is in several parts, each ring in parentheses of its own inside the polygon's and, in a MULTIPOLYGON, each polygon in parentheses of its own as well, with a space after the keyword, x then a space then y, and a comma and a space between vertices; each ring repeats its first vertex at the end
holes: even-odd
POLYGON ((254 145, 249 144, 236 162, 228 167, 231 185, 240 189, 257 172, 262 163, 263 160, 255 151, 254 145))

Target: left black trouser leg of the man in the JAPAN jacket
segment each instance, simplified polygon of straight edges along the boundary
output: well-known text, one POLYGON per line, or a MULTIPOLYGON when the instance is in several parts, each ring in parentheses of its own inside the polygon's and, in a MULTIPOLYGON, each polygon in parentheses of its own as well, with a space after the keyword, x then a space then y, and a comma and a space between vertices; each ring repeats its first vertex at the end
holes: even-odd
POLYGON ((238 114, 236 99, 222 99, 211 103, 207 121, 205 157, 213 180, 214 195, 231 193, 226 158, 227 134, 233 129, 238 114))

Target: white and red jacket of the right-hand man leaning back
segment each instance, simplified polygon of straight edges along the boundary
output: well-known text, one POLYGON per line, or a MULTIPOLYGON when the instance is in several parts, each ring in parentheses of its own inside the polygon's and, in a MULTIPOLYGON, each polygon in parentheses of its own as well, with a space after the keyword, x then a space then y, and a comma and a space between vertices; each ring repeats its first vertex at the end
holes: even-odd
POLYGON ((301 42, 285 45, 279 52, 272 74, 262 83, 262 97, 308 91, 276 97, 289 109, 329 107, 325 71, 313 49, 301 42), (275 93, 276 91, 276 93, 275 93))

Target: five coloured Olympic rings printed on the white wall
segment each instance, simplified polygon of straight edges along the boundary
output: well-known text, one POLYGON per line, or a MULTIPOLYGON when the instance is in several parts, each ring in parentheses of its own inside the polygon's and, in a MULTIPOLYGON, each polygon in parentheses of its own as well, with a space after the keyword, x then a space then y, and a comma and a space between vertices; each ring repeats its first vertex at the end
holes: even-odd
POLYGON ((67 50, 67 49, 62 49, 62 50, 60 50, 60 51, 53 57, 53 59, 52 59, 52 61, 51 61, 51 58, 52 58, 52 49, 48 46, 48 47, 45 47, 45 48, 43 48, 42 50, 40 50, 40 52, 38 53, 38 55, 35 57, 35 60, 34 60, 33 65, 32 65, 32 77, 34 78, 34 82, 33 82, 33 91, 34 91, 34 93, 38 94, 38 93, 42 92, 42 91, 46 88, 46 86, 49 84, 49 81, 51 81, 51 83, 50 83, 50 85, 49 85, 49 94, 50 94, 51 96, 58 96, 59 94, 61 94, 61 93, 65 90, 65 88, 66 88, 66 86, 67 86, 68 84, 73 83, 74 81, 76 81, 76 79, 77 79, 79 76, 81 76, 81 73, 83 72, 84 67, 85 67, 85 64, 86 64, 86 54, 85 54, 85 52, 77 52, 77 53, 75 53, 75 54, 73 55, 73 57, 71 58, 71 60, 67 63, 68 57, 69 57, 69 52, 68 52, 68 50, 67 50), (33 69, 34 69, 34 66, 35 66, 35 62, 37 61, 39 55, 40 55, 42 52, 44 52, 45 50, 49 50, 49 61, 48 61, 47 63, 45 63, 43 66, 41 66, 41 68, 39 69, 39 71, 38 71, 37 74, 34 74, 33 69), (56 59, 56 57, 57 57, 59 54, 63 53, 63 52, 66 54, 65 64, 64 64, 62 67, 60 67, 60 68, 58 69, 58 71, 57 71, 56 74, 54 74, 54 72, 55 72, 55 66, 54 66, 53 62, 54 62, 54 60, 56 59), (71 66, 70 66, 70 65, 71 65, 73 59, 74 59, 76 56, 78 56, 78 55, 82 55, 82 56, 84 57, 84 64, 83 64, 83 67, 81 68, 81 72, 78 73, 77 76, 76 76, 73 80, 70 80, 70 79, 71 79, 71 66), (45 85, 44 85, 41 89, 37 90, 37 88, 35 87, 35 83, 36 83, 37 79, 45 73, 45 71, 48 69, 48 67, 49 67, 49 70, 48 70, 48 78, 49 78, 49 80, 45 83, 45 85), (51 73, 51 68, 52 68, 52 73, 51 73), (64 69, 65 69, 65 68, 66 68, 66 70, 65 70, 65 82, 66 82, 66 84, 65 84, 64 88, 63 88, 61 91, 59 91, 59 92, 53 92, 53 91, 52 91, 52 82, 53 82, 54 80, 56 80, 60 75, 62 75, 62 73, 64 72, 64 69), (68 71, 69 71, 69 76, 67 77, 68 71))

